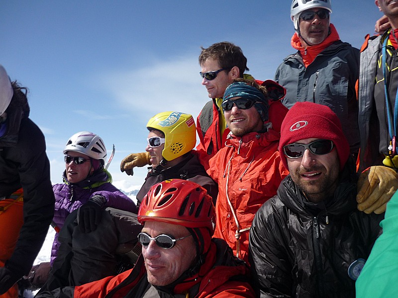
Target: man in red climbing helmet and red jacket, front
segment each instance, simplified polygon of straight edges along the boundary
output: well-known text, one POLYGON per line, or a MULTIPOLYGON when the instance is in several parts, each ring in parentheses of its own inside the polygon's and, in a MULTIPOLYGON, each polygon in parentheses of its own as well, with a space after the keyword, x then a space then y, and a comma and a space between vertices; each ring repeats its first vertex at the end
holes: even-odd
POLYGON ((133 269, 78 287, 43 291, 46 297, 252 298, 250 270, 213 234, 214 205, 199 184, 155 184, 142 200, 142 254, 133 269))

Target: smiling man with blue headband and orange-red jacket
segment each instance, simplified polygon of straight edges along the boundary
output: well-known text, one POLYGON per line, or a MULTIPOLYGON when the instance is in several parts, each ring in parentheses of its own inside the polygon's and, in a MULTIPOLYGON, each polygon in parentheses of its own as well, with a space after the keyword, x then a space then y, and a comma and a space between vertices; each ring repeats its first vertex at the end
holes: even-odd
POLYGON ((230 133, 225 147, 209 160, 207 171, 218 183, 214 237, 224 239, 247 262, 254 214, 276 194, 289 172, 278 152, 280 134, 267 122, 266 88, 235 79, 221 106, 230 133))

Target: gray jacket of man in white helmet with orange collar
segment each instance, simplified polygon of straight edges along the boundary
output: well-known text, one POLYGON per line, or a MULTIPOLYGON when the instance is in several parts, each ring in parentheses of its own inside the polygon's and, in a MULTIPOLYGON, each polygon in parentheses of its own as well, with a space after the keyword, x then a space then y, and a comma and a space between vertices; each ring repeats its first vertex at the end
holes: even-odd
POLYGON ((355 83, 359 71, 359 50, 338 40, 323 50, 305 68, 297 52, 284 59, 275 80, 286 88, 282 103, 312 101, 328 106, 337 114, 352 153, 359 149, 358 105, 355 83))

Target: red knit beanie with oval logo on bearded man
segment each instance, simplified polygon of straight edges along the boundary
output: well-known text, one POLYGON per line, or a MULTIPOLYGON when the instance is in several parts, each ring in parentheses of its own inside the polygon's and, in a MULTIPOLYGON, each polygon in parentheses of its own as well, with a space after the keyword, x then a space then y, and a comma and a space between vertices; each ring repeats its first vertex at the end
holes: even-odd
POLYGON ((340 170, 343 169, 350 154, 350 146, 341 129, 340 120, 329 107, 312 102, 295 103, 282 122, 279 153, 286 168, 288 161, 283 152, 284 146, 312 138, 332 141, 339 156, 340 170))

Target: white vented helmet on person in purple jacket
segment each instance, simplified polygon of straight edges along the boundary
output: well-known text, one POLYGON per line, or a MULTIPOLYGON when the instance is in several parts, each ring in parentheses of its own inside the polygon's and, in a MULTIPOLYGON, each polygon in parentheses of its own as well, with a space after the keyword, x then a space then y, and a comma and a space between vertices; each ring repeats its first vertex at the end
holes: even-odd
POLYGON ((75 151, 86 154, 105 163, 106 148, 100 136, 91 132, 79 132, 69 138, 64 148, 64 154, 75 151))

